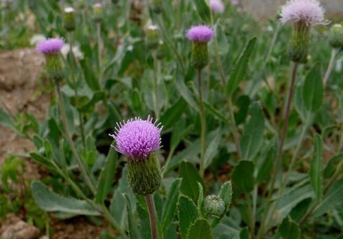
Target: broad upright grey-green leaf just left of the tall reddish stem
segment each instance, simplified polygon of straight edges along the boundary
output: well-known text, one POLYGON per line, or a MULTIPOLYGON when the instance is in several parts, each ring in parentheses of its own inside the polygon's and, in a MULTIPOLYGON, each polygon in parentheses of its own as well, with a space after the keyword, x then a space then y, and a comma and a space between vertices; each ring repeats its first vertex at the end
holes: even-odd
POLYGON ((250 120, 244 125, 241 151, 244 160, 253 160, 263 143, 264 116, 257 102, 250 106, 250 120))

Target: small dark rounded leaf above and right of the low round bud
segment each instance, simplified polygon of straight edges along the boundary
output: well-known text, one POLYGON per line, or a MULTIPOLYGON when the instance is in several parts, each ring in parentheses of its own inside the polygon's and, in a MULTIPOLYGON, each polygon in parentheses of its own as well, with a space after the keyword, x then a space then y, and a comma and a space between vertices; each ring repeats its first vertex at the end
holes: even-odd
POLYGON ((254 163, 242 160, 233 170, 233 184, 244 192, 251 192, 254 188, 254 163))

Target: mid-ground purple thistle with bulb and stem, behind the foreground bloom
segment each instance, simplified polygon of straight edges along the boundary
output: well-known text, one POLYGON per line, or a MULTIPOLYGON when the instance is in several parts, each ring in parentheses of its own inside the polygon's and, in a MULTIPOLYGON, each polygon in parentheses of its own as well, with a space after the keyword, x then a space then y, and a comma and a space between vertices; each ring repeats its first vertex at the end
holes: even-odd
POLYGON ((198 71, 198 94, 199 94, 199 109, 200 109, 200 175, 204 175, 206 153, 206 116, 204 113, 204 101, 202 99, 202 69, 209 64, 209 49, 208 43, 213 38, 213 31, 205 25, 191 27, 187 32, 187 38, 192 42, 191 49, 191 64, 198 71))

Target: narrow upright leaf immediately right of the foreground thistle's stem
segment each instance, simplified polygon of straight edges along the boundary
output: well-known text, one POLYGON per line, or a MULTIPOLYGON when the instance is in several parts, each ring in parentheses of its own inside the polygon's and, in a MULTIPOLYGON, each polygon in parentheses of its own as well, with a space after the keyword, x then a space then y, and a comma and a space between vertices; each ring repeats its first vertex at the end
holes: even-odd
POLYGON ((176 212, 176 204, 178 202, 178 194, 180 192, 180 184, 182 179, 176 179, 171 185, 167 199, 162 211, 162 230, 165 231, 174 219, 176 212))

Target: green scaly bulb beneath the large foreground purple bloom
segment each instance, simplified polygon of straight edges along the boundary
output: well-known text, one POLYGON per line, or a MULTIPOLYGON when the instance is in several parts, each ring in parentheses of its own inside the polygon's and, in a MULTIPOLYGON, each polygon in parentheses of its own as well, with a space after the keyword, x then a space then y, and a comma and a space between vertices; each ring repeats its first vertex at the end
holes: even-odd
POLYGON ((161 185, 160 165, 154 153, 141 160, 128 159, 128 181, 135 194, 152 194, 161 185))

